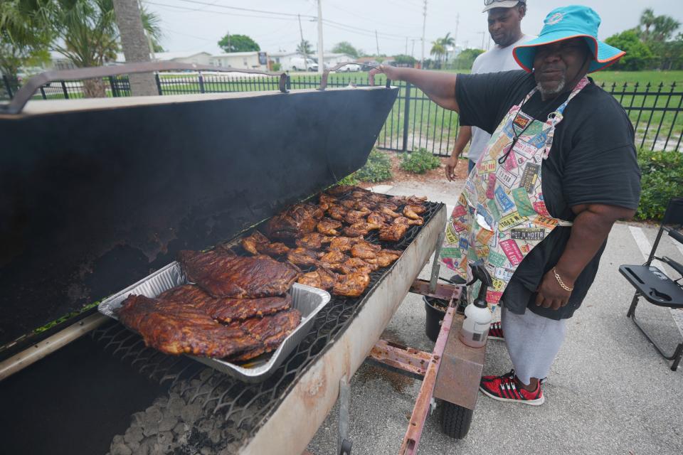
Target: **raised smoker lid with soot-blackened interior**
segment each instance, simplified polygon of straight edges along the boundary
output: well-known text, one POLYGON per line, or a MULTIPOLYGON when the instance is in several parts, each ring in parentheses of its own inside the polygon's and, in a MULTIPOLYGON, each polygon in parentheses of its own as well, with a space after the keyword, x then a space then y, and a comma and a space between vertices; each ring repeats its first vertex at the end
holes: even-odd
POLYGON ((361 168, 397 94, 34 101, 0 114, 0 358, 179 250, 227 240, 361 168))

